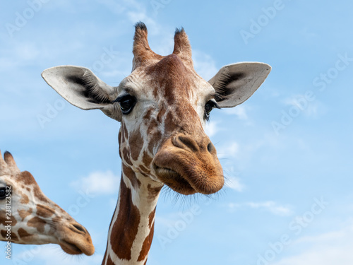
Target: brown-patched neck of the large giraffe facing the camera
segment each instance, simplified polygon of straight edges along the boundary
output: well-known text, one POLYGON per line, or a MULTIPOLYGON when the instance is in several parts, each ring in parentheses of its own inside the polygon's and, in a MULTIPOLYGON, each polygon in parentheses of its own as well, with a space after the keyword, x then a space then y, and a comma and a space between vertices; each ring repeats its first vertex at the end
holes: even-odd
POLYGON ((119 199, 102 264, 145 264, 152 244, 160 184, 122 165, 119 199))

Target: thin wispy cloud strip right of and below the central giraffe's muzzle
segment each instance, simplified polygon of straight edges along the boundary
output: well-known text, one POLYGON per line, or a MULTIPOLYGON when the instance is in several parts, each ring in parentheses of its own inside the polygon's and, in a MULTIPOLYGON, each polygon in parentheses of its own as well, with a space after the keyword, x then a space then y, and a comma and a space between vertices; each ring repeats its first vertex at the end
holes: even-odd
POLYGON ((236 211, 237 208, 250 207, 254 209, 260 209, 263 211, 269 211, 276 216, 290 216, 292 210, 289 206, 282 206, 277 204, 275 201, 263 201, 263 202, 245 202, 242 204, 229 203, 228 208, 230 211, 236 211))

